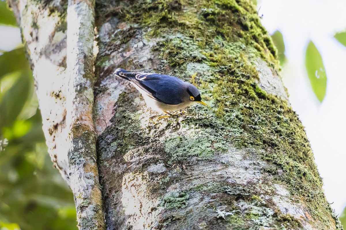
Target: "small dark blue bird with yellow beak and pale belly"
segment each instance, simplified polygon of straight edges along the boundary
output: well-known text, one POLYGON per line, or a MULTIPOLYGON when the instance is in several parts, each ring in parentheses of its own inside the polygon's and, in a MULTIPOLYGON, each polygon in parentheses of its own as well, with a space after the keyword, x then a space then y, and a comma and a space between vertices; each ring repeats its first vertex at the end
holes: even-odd
POLYGON ((168 111, 181 110, 196 103, 208 106, 202 101, 201 93, 193 84, 177 77, 159 73, 130 72, 121 68, 116 69, 113 74, 133 84, 142 94, 148 107, 167 114, 157 119, 180 114, 182 112, 168 111))

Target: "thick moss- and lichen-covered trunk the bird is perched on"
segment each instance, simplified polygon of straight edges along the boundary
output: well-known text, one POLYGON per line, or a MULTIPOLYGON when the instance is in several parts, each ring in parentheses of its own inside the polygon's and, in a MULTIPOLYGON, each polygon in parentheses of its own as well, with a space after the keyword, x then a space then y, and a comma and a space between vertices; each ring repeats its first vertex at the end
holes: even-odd
POLYGON ((108 226, 342 229, 251 1, 107 6, 94 111, 108 226), (118 67, 191 81, 213 109, 154 122, 118 67))

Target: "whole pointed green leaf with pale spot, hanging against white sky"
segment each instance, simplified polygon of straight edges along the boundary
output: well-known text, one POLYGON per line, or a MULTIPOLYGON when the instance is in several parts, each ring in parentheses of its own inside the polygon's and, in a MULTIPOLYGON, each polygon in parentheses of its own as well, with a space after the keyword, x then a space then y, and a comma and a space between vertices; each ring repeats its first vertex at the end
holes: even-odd
POLYGON ((315 93, 317 99, 322 102, 326 96, 327 74, 321 54, 312 41, 309 42, 306 49, 305 67, 308 72, 312 91, 315 93))

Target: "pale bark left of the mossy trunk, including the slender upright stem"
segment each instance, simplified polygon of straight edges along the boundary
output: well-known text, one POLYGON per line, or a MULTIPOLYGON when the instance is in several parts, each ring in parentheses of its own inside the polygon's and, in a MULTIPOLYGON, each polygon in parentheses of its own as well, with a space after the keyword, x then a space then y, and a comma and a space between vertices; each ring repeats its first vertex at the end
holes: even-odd
POLYGON ((95 3, 10 3, 33 68, 48 151, 73 191, 78 227, 104 229, 92 120, 95 3))

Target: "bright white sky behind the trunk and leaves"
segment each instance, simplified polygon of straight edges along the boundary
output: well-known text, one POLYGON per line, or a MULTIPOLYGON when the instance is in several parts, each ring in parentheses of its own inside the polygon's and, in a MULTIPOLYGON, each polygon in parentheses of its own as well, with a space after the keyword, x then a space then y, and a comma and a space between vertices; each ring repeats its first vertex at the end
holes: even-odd
MULTIPOLYGON (((288 58, 281 73, 299 114, 324 178, 325 194, 332 208, 346 206, 346 47, 334 38, 346 29, 346 0, 262 0, 259 14, 270 33, 280 30, 288 58), (327 73, 327 94, 320 104, 313 94, 304 67, 306 45, 311 39, 322 55, 327 73)), ((18 28, 0 26, 0 50, 21 42, 18 28)))

